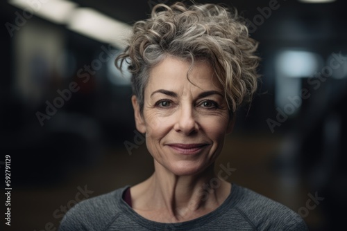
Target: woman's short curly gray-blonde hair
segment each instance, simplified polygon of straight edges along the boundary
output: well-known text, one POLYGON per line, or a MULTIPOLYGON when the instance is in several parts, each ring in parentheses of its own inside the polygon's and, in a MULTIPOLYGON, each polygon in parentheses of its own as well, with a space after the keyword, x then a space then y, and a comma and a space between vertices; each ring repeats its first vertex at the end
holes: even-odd
POLYGON ((257 89, 257 45, 235 8, 158 4, 149 19, 134 24, 133 35, 115 63, 120 70, 124 61, 129 64, 133 94, 143 111, 144 89, 156 64, 168 55, 192 65, 194 60, 207 60, 223 86, 230 111, 235 112, 242 103, 251 102, 257 89))

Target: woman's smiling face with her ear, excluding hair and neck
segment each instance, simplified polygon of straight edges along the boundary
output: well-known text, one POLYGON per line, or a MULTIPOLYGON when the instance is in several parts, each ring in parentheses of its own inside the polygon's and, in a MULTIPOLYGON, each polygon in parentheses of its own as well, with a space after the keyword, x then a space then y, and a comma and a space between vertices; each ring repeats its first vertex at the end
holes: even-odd
POLYGON ((146 145, 155 168, 178 176, 202 172, 217 158, 226 133, 232 130, 223 90, 207 62, 165 58, 155 66, 144 91, 143 114, 135 96, 137 129, 146 133, 146 145), (193 83, 193 84, 192 84, 193 83))

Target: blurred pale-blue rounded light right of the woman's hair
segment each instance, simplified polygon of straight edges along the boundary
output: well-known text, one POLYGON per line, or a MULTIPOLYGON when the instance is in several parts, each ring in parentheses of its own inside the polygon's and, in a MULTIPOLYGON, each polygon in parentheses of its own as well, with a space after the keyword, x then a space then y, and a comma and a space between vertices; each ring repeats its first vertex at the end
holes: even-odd
POLYGON ((286 77, 309 77, 319 68, 316 54, 301 50, 286 50, 277 59, 277 67, 286 77))

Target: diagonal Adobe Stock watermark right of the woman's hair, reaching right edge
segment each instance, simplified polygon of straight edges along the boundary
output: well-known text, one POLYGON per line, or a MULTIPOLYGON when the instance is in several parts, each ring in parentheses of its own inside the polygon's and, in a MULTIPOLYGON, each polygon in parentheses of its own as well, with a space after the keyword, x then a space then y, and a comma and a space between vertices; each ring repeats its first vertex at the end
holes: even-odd
MULTIPOLYGON (((307 79, 307 84, 312 86, 314 90, 319 89, 322 82, 325 82, 328 77, 332 76, 334 70, 339 68, 344 62, 347 62, 347 56, 343 56, 341 52, 332 53, 332 59, 330 59, 328 66, 323 66, 321 71, 316 71, 311 77, 307 79)), ((308 89, 301 89, 300 95, 288 96, 288 103, 285 104, 284 107, 277 107, 276 111, 276 119, 267 118, 266 123, 271 131, 271 133, 275 132, 276 127, 280 127, 284 122, 287 121, 289 115, 292 115, 296 109, 301 106, 302 100, 307 100, 311 97, 311 93, 308 89)))

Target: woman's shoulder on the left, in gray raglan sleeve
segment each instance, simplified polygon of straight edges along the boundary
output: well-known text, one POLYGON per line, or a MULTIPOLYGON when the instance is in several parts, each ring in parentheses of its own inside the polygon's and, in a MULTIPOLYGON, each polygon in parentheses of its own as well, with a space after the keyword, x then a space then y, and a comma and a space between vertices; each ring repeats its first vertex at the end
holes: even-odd
POLYGON ((104 230, 117 219, 118 203, 126 187, 89 198, 71 207, 60 222, 59 231, 104 230), (97 224, 98 227, 94 227, 97 224))

